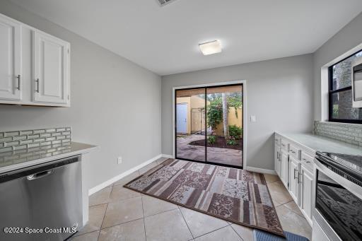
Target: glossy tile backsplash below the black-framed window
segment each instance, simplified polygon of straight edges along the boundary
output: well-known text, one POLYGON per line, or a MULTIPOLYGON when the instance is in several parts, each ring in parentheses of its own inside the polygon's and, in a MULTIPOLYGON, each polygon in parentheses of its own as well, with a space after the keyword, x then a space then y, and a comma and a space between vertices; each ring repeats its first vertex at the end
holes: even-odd
POLYGON ((331 139, 362 146, 362 124, 315 121, 314 133, 331 139))

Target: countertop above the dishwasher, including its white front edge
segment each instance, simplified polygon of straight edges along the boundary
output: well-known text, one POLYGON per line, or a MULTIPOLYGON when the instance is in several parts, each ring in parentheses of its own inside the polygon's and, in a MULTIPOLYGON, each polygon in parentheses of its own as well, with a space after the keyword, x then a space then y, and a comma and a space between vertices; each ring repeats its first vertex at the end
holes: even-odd
POLYGON ((32 165, 48 163, 52 160, 67 158, 72 155, 88 153, 96 148, 98 147, 72 141, 69 143, 0 153, 0 174, 32 165))

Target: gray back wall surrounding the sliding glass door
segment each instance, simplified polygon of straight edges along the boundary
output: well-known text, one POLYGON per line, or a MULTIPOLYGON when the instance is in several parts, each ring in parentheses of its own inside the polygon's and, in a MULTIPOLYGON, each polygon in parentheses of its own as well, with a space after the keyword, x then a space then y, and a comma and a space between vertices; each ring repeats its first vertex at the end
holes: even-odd
POLYGON ((313 55, 259 61, 162 78, 162 152, 173 154, 174 86, 247 80, 247 165, 274 170, 274 131, 312 131, 313 55), (250 122, 250 115, 257 122, 250 122))

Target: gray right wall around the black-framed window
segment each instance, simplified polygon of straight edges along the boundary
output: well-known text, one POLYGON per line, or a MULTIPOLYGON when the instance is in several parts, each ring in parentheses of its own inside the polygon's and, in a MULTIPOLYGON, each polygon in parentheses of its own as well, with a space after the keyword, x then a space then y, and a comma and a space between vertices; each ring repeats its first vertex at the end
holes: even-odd
MULTIPOLYGON (((314 53, 314 78, 315 78, 315 120, 321 120, 322 100, 321 100, 321 74, 322 66, 333 61, 342 54, 353 49, 362 43, 362 13, 354 20, 351 20, 337 34, 331 37, 314 53)), ((325 103, 327 105, 327 103, 325 103)), ((325 108, 325 106, 323 106, 325 108)))

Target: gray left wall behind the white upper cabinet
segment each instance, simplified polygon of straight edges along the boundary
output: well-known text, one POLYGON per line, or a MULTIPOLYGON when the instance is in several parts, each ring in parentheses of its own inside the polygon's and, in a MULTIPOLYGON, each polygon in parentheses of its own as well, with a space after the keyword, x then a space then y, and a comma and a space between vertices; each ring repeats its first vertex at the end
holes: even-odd
POLYGON ((7 1, 0 13, 71 43, 71 107, 0 105, 0 131, 70 126, 73 141, 100 146, 88 187, 161 153, 160 76, 7 1))

